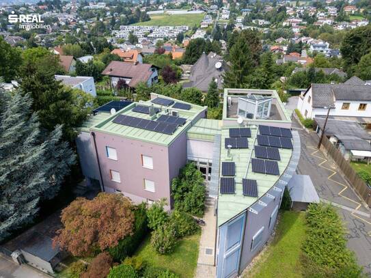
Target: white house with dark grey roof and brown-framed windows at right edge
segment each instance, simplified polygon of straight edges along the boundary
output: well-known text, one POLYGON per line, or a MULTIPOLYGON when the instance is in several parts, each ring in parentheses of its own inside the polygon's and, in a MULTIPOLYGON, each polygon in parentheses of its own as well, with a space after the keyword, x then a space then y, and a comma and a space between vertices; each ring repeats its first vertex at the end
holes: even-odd
POLYGON ((325 107, 335 106, 329 115, 338 120, 346 117, 361 124, 371 124, 371 86, 358 77, 340 84, 312 84, 299 97, 297 109, 301 115, 313 119, 326 115, 325 107))

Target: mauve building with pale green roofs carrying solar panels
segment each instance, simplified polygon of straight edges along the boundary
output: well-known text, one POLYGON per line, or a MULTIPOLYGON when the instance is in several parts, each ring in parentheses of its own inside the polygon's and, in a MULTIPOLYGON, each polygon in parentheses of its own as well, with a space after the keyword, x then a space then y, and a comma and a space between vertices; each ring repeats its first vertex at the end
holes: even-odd
POLYGON ((225 89, 222 120, 206 119, 207 107, 151 98, 96 111, 78 138, 83 173, 103 191, 135 202, 166 197, 171 208, 172 178, 187 162, 195 163, 212 219, 199 262, 215 267, 215 277, 236 277, 270 238, 299 162, 300 139, 290 114, 274 90, 225 89), (164 119, 179 124, 168 133, 165 126, 148 130, 164 119))

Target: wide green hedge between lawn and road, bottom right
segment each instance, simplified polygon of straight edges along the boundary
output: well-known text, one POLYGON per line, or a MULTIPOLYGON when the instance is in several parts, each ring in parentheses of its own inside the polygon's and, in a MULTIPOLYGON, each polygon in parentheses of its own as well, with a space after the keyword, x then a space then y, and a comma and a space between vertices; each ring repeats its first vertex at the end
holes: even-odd
POLYGON ((305 276, 316 272, 317 277, 362 277, 362 268, 346 247, 346 231, 335 209, 329 204, 310 204, 306 220, 302 248, 307 263, 303 265, 309 269, 305 276))

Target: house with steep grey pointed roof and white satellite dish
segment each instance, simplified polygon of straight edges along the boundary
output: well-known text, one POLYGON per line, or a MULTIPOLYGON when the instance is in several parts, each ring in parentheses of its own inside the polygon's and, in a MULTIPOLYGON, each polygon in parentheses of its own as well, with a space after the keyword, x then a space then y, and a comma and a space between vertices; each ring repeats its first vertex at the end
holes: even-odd
POLYGON ((230 66, 223 61, 223 57, 216 53, 203 53, 192 66, 190 82, 183 83, 183 87, 197 87, 202 92, 208 91, 208 85, 214 79, 218 89, 223 88, 223 74, 229 70, 230 66))

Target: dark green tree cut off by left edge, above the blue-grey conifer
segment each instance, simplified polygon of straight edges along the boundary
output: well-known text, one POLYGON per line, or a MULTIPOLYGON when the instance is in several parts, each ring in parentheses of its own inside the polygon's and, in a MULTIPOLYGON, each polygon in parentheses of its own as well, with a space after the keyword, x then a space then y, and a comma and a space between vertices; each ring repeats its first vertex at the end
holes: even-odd
POLYGON ((16 79, 21 64, 20 50, 12 47, 0 36, 0 77, 3 77, 5 82, 16 79))

